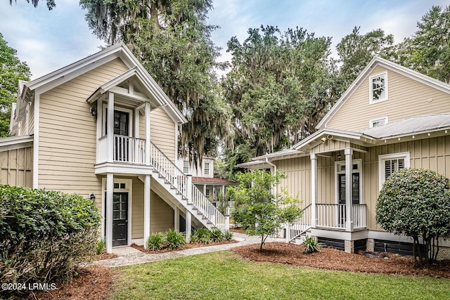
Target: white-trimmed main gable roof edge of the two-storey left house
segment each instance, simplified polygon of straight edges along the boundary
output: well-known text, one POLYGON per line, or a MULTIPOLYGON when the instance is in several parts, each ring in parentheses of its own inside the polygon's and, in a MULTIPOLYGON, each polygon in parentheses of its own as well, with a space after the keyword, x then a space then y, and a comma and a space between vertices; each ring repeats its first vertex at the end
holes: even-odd
MULTIPOLYGON (((46 74, 42 77, 34 79, 29 82, 19 83, 18 102, 15 110, 15 122, 18 122, 25 115, 26 103, 34 100, 35 94, 45 93, 60 84, 78 77, 80 74, 94 70, 96 67, 104 65, 116 58, 120 58, 129 69, 135 69, 134 74, 139 74, 141 80, 146 83, 155 97, 155 100, 160 103, 160 106, 167 112, 167 114, 178 124, 186 123, 187 120, 183 114, 174 105, 172 100, 167 97, 161 87, 156 81, 148 74, 146 69, 139 63, 134 57, 133 53, 129 51, 129 48, 125 44, 115 44, 108 48, 105 48, 98 53, 78 60, 75 63, 62 67, 56 71, 46 74)), ((123 75, 123 74, 122 74, 123 75)), ((122 76, 120 75, 120 76, 122 76)), ((113 79, 114 80, 114 79, 113 79)))

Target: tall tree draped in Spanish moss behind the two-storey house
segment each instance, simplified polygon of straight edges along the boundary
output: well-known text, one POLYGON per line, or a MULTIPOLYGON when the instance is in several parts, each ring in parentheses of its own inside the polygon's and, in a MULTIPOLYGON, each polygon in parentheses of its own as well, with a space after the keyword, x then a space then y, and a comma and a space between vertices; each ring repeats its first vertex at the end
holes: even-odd
POLYGON ((82 0, 86 20, 107 44, 123 41, 188 119, 183 154, 194 162, 215 154, 229 132, 229 110, 221 99, 214 67, 218 48, 206 24, 210 0, 82 0))

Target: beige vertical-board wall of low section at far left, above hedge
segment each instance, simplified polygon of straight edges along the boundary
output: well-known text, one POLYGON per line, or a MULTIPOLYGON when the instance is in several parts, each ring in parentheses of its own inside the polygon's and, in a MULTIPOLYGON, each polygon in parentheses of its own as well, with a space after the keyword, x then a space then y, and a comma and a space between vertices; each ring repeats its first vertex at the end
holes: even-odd
POLYGON ((0 183, 32 188, 33 148, 0 152, 0 183))

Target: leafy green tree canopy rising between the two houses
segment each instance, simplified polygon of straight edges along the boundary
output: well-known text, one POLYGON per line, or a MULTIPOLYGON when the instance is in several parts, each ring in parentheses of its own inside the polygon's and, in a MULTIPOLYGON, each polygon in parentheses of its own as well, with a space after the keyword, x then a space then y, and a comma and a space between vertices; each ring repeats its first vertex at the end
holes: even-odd
POLYGON ((224 98, 233 110, 233 142, 245 155, 288 148, 314 132, 333 101, 330 38, 262 26, 250 28, 243 44, 232 37, 227 51, 233 58, 224 98))

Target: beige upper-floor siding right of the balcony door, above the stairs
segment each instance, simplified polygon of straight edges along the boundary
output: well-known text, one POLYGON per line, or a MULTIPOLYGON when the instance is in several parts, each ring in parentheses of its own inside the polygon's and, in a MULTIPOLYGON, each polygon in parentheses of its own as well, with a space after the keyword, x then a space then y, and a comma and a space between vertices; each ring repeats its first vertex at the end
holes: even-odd
MULTIPOLYGON (((167 112, 158 107, 150 112, 150 141, 156 145, 172 162, 175 162, 175 123, 167 112)), ((146 138, 146 119, 139 116, 139 136, 146 138)))

